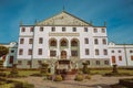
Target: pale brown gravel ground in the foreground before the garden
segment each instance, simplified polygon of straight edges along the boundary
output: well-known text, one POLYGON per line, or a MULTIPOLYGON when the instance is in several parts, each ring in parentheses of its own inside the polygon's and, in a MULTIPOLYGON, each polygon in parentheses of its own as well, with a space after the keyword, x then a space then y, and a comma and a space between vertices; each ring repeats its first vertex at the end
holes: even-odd
POLYGON ((19 78, 16 80, 27 81, 34 84, 35 88, 111 88, 110 85, 117 84, 121 78, 133 78, 130 77, 102 77, 101 75, 94 75, 90 80, 84 79, 83 81, 63 80, 52 81, 43 80, 43 77, 27 77, 19 78))

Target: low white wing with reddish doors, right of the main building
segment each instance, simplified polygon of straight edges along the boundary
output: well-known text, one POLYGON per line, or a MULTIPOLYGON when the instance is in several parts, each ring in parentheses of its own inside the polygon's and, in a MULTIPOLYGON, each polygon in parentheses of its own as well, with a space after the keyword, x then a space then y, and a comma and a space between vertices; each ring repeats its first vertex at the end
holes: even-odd
POLYGON ((111 65, 133 66, 133 45, 109 43, 111 65))

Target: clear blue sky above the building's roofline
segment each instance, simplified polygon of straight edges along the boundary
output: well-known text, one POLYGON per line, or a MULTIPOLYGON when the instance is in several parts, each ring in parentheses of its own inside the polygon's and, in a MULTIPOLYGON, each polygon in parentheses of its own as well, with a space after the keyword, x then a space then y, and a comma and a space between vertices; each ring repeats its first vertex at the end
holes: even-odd
POLYGON ((133 44, 133 0, 0 0, 0 43, 18 42, 19 23, 65 11, 94 25, 108 23, 109 41, 133 44))

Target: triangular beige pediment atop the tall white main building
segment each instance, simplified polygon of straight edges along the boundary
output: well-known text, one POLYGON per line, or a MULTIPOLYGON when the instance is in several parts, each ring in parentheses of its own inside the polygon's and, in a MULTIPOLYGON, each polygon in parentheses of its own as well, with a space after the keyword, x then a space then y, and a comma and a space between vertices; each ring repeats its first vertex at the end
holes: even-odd
POLYGON ((35 25, 90 25, 88 22, 63 11, 48 20, 38 22, 35 25))

